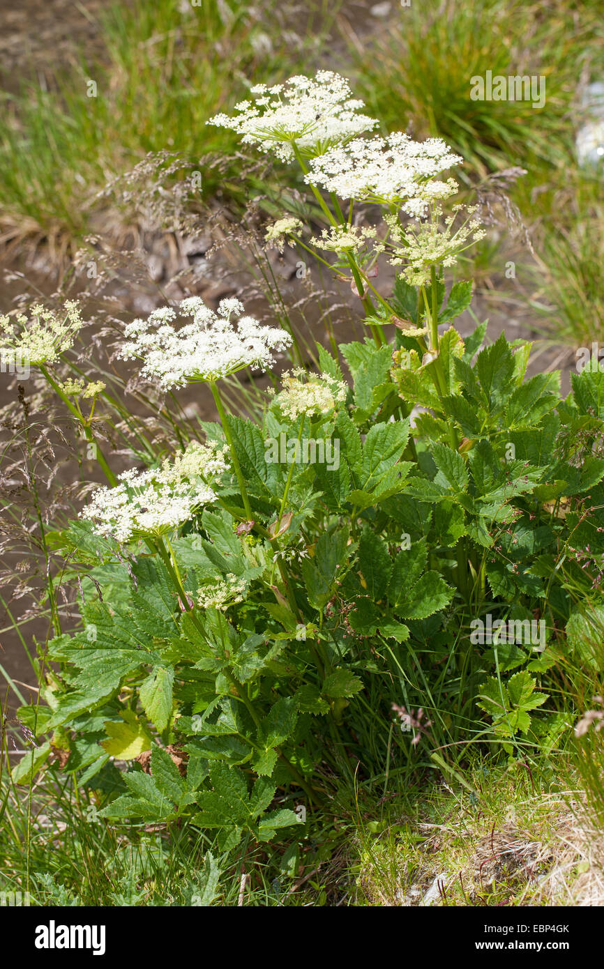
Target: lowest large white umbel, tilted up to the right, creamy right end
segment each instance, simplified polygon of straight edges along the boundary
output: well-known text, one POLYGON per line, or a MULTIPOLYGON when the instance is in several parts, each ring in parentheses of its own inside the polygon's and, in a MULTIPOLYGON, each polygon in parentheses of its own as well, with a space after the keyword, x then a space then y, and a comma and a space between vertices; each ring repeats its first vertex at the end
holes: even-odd
POLYGON ((166 458, 160 468, 124 471, 114 487, 100 487, 80 516, 95 523, 98 535, 118 542, 158 538, 216 500, 210 483, 227 468, 226 448, 191 443, 166 458))

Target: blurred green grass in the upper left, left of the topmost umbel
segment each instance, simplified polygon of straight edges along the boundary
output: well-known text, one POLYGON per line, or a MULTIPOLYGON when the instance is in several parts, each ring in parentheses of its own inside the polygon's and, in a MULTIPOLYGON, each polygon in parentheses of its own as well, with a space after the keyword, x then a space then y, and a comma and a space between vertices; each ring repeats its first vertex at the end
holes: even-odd
MULTIPOLYGON (((227 99, 246 97, 248 75, 270 79, 286 58, 291 68, 292 48, 309 54, 313 10, 303 24, 294 18, 289 32, 283 12, 277 32, 272 20, 239 0, 113 5, 99 15, 104 54, 98 62, 81 55, 49 84, 25 78, 15 94, 5 93, 5 220, 54 238, 79 234, 91 211, 102 210, 96 197, 105 184, 159 151, 181 153, 185 174, 201 172, 200 197, 216 190, 237 195, 238 163, 216 172, 200 161, 235 153, 236 140, 207 128, 207 118, 227 99)), ((323 29, 317 27, 317 36, 323 29)))

